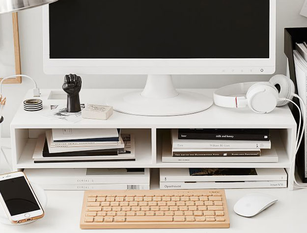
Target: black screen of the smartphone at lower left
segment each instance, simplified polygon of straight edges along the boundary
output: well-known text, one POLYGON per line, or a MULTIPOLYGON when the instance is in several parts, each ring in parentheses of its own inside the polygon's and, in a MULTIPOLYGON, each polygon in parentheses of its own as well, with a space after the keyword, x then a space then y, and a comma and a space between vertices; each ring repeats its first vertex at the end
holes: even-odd
POLYGON ((0 193, 11 216, 40 209, 24 177, 0 181, 0 193))

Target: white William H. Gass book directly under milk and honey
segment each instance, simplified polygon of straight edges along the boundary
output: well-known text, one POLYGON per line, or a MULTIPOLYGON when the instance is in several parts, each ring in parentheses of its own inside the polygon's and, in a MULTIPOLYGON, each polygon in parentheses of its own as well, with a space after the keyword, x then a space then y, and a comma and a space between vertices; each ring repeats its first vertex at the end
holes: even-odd
POLYGON ((178 139, 178 129, 172 129, 172 148, 175 149, 271 149, 270 141, 223 141, 178 139))

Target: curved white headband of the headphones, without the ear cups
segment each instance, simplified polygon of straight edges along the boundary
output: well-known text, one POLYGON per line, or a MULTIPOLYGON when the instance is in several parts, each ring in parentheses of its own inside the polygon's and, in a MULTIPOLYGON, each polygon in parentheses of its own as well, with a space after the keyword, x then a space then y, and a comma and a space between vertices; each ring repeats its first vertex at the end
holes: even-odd
POLYGON ((257 82, 241 82, 221 87, 214 92, 214 103, 221 107, 238 108, 238 97, 242 100, 242 96, 255 83, 257 82))

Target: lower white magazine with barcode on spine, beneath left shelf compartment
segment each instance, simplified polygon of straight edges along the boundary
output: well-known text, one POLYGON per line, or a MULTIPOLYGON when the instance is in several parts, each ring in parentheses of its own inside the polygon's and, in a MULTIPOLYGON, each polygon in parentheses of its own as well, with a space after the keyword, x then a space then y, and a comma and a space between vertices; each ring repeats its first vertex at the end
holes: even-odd
POLYGON ((149 190, 149 183, 48 184, 37 183, 45 190, 149 190))

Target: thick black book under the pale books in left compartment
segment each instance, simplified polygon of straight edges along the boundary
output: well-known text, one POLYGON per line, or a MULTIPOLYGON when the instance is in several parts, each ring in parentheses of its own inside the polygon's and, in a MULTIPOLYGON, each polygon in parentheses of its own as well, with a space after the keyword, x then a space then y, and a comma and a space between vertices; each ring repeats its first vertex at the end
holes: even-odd
POLYGON ((72 156, 111 156, 118 155, 119 149, 96 150, 96 151, 75 151, 75 152, 60 152, 49 153, 47 140, 43 149, 43 157, 72 157, 72 156))

